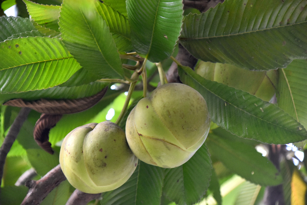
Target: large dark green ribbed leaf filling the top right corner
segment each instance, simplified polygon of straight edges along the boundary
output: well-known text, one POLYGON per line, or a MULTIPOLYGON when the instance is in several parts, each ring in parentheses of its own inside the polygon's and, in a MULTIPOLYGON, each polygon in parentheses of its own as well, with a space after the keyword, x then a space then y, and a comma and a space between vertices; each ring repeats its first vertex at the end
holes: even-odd
POLYGON ((179 42, 203 61, 285 68, 307 58, 305 0, 226 0, 183 21, 179 42))

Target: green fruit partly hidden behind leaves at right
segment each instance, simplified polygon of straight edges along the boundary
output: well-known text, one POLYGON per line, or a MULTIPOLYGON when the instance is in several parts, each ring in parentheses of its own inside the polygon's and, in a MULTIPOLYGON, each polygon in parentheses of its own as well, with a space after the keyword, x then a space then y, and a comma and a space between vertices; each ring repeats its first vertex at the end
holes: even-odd
POLYGON ((200 76, 243 90, 270 101, 277 88, 277 70, 251 71, 231 64, 200 61, 195 68, 200 76))

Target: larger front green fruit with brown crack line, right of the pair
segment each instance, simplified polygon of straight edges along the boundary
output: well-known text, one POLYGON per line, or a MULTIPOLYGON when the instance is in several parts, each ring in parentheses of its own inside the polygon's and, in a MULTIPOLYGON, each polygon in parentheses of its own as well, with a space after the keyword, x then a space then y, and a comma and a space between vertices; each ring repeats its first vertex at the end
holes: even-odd
POLYGON ((126 138, 142 161, 174 168, 188 161, 207 138, 210 116, 195 89, 168 83, 141 99, 126 121, 126 138))

